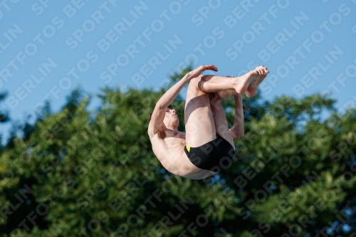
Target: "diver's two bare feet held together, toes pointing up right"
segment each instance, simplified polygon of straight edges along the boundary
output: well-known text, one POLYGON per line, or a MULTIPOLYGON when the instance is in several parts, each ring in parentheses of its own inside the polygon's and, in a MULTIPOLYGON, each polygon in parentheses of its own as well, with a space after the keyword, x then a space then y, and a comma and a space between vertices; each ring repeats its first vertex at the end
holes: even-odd
POLYGON ((236 92, 239 94, 245 93, 248 97, 256 94, 258 85, 269 73, 268 69, 261 65, 248 73, 241 75, 237 80, 236 92))

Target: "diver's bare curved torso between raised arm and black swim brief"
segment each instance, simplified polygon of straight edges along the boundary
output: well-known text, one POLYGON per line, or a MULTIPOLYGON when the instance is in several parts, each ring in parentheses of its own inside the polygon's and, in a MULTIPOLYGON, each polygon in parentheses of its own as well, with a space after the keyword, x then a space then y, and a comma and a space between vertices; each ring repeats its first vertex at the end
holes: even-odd
POLYGON ((172 174, 189 179, 204 179, 216 172, 199 169, 190 162, 184 152, 185 133, 166 129, 164 132, 149 132, 152 150, 162 166, 172 174))

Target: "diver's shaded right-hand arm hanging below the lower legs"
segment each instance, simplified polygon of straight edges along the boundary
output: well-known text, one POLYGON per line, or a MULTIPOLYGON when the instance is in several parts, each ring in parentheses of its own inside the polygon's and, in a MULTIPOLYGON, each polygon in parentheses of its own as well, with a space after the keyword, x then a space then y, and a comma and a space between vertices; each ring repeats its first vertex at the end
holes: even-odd
POLYGON ((235 120, 234 125, 230 129, 230 134, 233 139, 244 137, 244 109, 242 107, 242 95, 234 95, 235 99, 235 120))

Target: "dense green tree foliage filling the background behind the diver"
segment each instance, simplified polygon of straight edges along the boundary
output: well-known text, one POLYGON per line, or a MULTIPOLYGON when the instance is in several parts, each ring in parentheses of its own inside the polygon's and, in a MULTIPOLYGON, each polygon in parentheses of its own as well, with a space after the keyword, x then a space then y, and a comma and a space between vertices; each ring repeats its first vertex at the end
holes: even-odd
MULTIPOLYGON (((355 109, 339 115, 323 95, 244 97, 236 159, 190 180, 163 169, 147 136, 163 93, 104 88, 92 112, 75 90, 21 127, 0 157, 0 236, 352 236, 355 109)), ((173 106, 184 130, 184 98, 173 106)), ((231 125, 234 100, 223 106, 231 125)))

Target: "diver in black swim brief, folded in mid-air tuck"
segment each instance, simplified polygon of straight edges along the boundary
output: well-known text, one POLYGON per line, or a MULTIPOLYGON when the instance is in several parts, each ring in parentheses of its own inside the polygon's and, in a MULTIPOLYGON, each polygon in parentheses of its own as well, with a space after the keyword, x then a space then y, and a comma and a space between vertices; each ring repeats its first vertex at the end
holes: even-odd
POLYGON ((201 65, 184 75, 157 101, 148 126, 152 151, 167 171, 189 179, 204 179, 228 169, 235 154, 234 139, 244 137, 242 94, 255 95, 268 74, 259 66, 236 78, 201 75, 214 65, 201 65), (189 83, 184 107, 185 132, 169 106, 189 83), (229 128, 221 100, 235 100, 234 124, 229 128), (183 152, 184 151, 184 152, 183 152))

